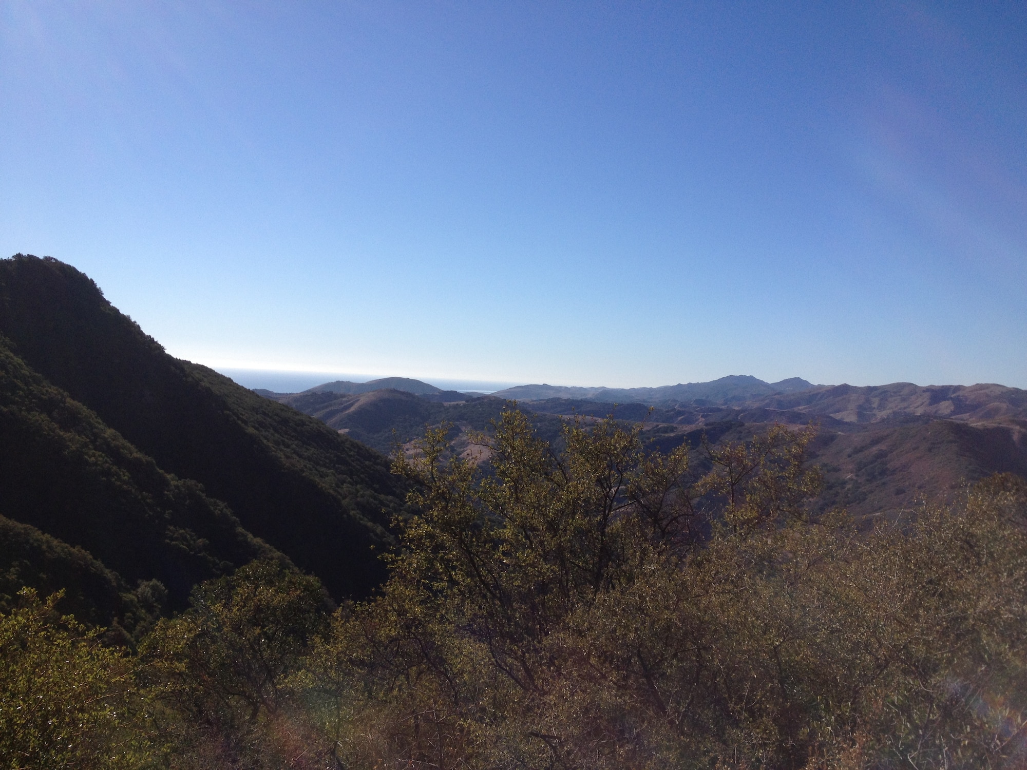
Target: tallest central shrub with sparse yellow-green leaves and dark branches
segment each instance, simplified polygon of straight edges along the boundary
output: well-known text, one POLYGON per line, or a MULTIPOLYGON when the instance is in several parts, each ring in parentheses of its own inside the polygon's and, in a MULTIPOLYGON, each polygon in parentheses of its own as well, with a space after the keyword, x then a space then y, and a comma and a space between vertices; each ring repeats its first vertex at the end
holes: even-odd
POLYGON ((406 525, 396 579, 460 596, 485 615, 474 627, 509 624, 519 646, 641 569, 645 553, 633 542, 686 531, 688 501, 670 497, 687 470, 685 451, 647 457, 638 431, 612 421, 592 431, 571 424, 564 442, 555 455, 527 416, 508 411, 489 441, 491 473, 482 475, 464 460, 444 466, 443 430, 429 431, 420 458, 395 464, 419 483, 412 501, 424 511, 406 525))

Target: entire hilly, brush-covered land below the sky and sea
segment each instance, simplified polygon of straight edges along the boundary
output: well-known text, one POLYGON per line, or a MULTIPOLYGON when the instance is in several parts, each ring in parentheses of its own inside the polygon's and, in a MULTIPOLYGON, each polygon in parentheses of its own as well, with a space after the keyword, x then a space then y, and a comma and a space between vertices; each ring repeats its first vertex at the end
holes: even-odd
MULTIPOLYGON (((92 758, 30 767, 570 768, 629 715, 607 767, 921 746, 877 704, 934 709, 963 661, 1025 691, 1025 395, 255 391, 70 265, 0 260, 0 741, 92 758)), ((975 757, 1022 757, 951 715, 975 757)))

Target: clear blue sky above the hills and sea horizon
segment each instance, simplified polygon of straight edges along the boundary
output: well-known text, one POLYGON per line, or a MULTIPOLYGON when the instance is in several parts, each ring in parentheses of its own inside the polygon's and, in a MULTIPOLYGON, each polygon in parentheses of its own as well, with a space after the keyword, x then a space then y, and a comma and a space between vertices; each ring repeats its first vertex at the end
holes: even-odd
POLYGON ((0 254, 220 368, 1027 387, 1027 4, 0 2, 0 254))

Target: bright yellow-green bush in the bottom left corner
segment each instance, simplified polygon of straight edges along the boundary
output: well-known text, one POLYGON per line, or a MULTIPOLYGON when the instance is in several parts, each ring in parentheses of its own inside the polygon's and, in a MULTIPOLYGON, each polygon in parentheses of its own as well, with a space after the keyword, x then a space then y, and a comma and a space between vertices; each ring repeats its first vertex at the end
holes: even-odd
POLYGON ((134 661, 56 615, 60 594, 20 596, 0 614, 0 767, 140 767, 147 740, 134 710, 134 661))

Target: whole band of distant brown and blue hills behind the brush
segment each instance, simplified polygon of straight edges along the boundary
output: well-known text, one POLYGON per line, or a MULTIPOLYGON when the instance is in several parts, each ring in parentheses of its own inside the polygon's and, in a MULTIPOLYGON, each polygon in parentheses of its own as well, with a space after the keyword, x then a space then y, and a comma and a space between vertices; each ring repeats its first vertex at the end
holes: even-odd
MULTIPOLYGON (((346 384, 347 387, 352 384, 346 384)), ((417 380, 363 383, 378 389, 347 393, 319 386, 268 397, 316 417, 381 452, 450 423, 467 457, 473 431, 488 428, 516 400, 543 437, 560 435, 561 420, 613 414, 643 422, 650 446, 741 440, 779 422, 820 424, 814 459, 828 482, 825 505, 858 516, 914 505, 922 495, 954 494, 965 482, 1009 471, 1027 476, 1027 391, 1001 385, 868 387, 812 385, 800 378, 767 383, 732 376, 657 388, 569 388, 523 385, 489 396, 433 392, 417 380), (391 384, 391 388, 379 385, 391 384), (425 392, 418 395, 414 388, 425 392)))

